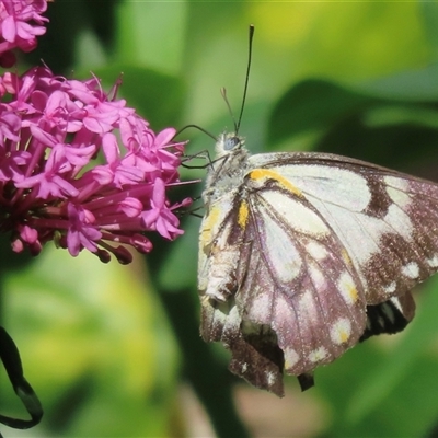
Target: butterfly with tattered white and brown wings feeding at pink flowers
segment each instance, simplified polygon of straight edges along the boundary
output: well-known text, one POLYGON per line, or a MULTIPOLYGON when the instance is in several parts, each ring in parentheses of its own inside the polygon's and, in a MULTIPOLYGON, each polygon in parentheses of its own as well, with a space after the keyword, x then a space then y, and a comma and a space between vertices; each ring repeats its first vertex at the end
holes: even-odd
POLYGON ((302 390, 369 336, 414 318, 411 290, 438 270, 438 185, 316 152, 251 155, 222 134, 203 193, 200 333, 230 370, 302 390))

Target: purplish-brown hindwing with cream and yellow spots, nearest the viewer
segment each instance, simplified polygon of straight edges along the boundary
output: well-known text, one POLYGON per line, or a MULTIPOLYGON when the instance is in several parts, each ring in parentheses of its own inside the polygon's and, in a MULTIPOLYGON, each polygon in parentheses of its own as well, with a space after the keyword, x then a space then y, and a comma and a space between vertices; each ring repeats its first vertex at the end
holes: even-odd
POLYGON ((246 180, 251 274, 235 300, 244 321, 276 332, 286 371, 299 376, 357 343, 364 290, 345 249, 302 194, 272 172, 246 180))

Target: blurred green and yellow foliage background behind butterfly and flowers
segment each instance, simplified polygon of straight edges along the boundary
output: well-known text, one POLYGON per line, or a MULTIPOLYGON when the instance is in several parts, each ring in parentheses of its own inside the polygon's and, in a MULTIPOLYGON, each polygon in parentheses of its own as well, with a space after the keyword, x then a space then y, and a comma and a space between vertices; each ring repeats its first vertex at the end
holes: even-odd
MULTIPOLYGON (((256 27, 241 134, 253 152, 320 150, 438 181, 436 2, 49 3, 47 34, 25 65, 105 80, 152 128, 232 129, 247 27, 256 27)), ((187 153, 214 141, 194 129, 187 153)), ((205 171, 184 170, 183 177, 205 171)), ((198 196, 201 185, 192 187, 198 196)), ((187 193, 185 193, 187 195, 187 193)), ((7 437, 438 436, 438 281, 418 288, 417 316, 372 338, 279 400, 235 379, 228 354, 198 334, 197 217, 129 266, 71 258, 47 245, 36 260, 1 237, 1 323, 46 415, 7 437)), ((0 412, 23 416, 0 370, 0 412)))

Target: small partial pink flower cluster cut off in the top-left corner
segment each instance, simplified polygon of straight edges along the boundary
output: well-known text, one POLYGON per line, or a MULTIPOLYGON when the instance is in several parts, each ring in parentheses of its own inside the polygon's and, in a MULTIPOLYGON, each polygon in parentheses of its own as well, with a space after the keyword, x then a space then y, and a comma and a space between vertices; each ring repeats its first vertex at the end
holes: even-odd
POLYGON ((46 0, 0 1, 0 65, 10 67, 15 57, 10 50, 19 48, 31 51, 36 47, 36 37, 46 33, 44 23, 48 19, 46 0))

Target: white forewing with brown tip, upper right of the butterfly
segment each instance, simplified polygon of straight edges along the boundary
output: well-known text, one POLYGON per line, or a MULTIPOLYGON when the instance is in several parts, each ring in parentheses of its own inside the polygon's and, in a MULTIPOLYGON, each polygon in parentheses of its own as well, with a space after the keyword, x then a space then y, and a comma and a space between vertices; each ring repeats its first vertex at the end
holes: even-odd
POLYGON ((437 272, 435 183, 331 154, 281 161, 269 155, 251 159, 261 158, 263 169, 299 187, 326 220, 362 280, 368 304, 403 295, 437 272))

